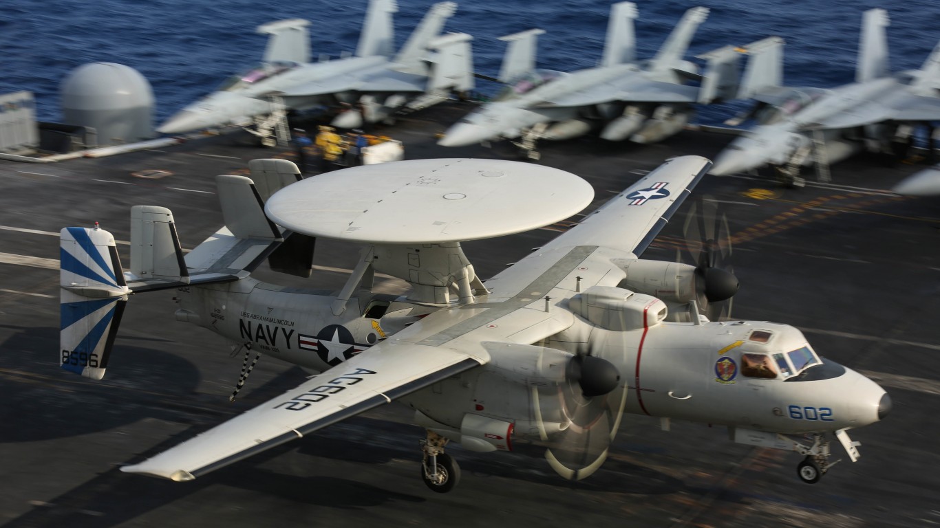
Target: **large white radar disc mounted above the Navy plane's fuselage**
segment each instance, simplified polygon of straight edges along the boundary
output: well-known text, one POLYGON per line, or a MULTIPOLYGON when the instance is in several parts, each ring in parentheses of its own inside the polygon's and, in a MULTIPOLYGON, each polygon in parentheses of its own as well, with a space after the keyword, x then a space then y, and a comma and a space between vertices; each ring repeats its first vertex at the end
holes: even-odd
POLYGON ((314 237, 431 243, 554 224, 593 197, 584 179, 532 163, 412 160, 304 179, 271 196, 265 210, 275 224, 314 237))

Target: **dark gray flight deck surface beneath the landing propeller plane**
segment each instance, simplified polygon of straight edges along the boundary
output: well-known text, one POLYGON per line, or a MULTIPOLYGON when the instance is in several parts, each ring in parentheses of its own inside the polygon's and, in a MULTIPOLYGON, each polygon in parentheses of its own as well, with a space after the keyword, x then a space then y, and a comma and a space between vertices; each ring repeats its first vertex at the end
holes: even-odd
MULTIPOLYGON (((493 148, 438 148, 435 134, 467 106, 400 119, 388 133, 406 157, 515 159, 493 148)), ((574 172, 596 191, 592 207, 666 158, 713 156, 729 136, 682 132, 635 146, 582 139, 545 143, 539 163, 574 172)), ((213 177, 247 161, 291 159, 242 134, 99 160, 0 162, 0 524, 20 526, 925 526, 940 522, 940 200, 885 189, 919 167, 864 156, 833 167, 832 185, 783 189, 769 179, 706 177, 695 195, 722 202, 742 288, 733 314, 793 324, 824 356, 868 373, 894 410, 854 431, 862 458, 814 486, 799 457, 729 443, 720 427, 627 416, 603 469, 582 483, 557 477, 534 446, 476 454, 449 448, 462 482, 441 495, 418 477, 422 430, 387 406, 203 476, 174 483, 122 474, 154 455, 298 384, 306 373, 262 357, 229 404, 241 368, 217 336, 173 317, 173 291, 133 296, 101 382, 56 367, 58 230, 99 222, 129 239, 130 208, 173 210, 180 241, 196 246, 221 225, 213 177), (145 169, 172 173, 138 179, 145 169)), ((683 210, 680 211, 680 217, 683 210)), ((577 221, 578 217, 572 218, 577 221)), ((464 244, 491 276, 564 229, 464 244)), ((682 222, 666 225, 646 257, 673 259, 682 222)), ((127 245, 118 251, 128 262, 127 245)), ((288 286, 337 289, 354 247, 318 241, 309 280, 262 266, 288 286)), ((400 284, 384 281, 396 291, 400 284)))

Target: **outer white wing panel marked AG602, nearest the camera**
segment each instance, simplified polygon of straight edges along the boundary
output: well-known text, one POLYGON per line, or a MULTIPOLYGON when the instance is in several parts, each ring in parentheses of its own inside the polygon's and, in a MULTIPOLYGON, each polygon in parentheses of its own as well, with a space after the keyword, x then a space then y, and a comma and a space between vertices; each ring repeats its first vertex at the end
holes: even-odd
MULTIPOLYGON (((431 316, 429 316, 431 318, 431 316)), ((485 364, 489 356, 385 341, 311 377, 283 396, 213 427, 127 473, 187 481, 303 437, 432 383, 485 364)))

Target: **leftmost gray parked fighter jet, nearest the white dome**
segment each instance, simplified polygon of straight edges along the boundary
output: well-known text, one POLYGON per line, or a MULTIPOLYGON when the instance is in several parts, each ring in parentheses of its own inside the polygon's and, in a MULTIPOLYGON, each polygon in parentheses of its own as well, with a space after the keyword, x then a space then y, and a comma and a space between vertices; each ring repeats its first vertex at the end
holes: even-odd
POLYGON ((357 110, 337 116, 335 126, 356 128, 381 121, 404 108, 444 101, 451 91, 474 86, 472 38, 440 35, 454 2, 434 4, 415 32, 394 53, 392 15, 396 0, 369 0, 366 22, 352 56, 310 62, 309 22, 291 19, 266 23, 271 35, 261 64, 231 77, 218 90, 171 116, 157 129, 190 132, 230 124, 255 123, 268 138, 287 109, 307 110, 355 103, 357 110))

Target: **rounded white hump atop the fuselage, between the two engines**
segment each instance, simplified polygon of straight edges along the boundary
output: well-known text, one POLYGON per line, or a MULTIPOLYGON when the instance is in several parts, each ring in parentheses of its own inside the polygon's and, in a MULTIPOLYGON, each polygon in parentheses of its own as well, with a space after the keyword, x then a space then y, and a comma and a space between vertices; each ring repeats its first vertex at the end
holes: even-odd
POLYGON ((655 326, 668 313, 663 301, 622 287, 588 287, 568 303, 575 314, 614 332, 633 332, 655 326))

